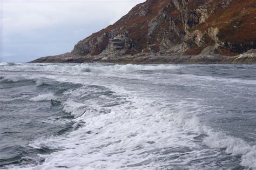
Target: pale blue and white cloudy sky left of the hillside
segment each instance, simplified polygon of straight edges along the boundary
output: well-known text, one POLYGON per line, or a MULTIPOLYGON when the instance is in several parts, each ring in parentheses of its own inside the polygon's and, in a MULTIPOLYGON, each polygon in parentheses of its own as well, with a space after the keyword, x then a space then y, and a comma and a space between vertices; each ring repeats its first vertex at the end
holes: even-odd
POLYGON ((145 0, 0 0, 0 62, 70 52, 145 0))

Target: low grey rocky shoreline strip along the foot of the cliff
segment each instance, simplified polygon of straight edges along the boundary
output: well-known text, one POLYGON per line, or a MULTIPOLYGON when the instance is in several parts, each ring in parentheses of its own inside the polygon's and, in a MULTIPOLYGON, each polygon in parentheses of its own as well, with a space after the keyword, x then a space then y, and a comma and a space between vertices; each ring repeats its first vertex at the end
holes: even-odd
POLYGON ((112 63, 112 64, 256 64, 256 50, 238 56, 221 55, 159 55, 139 53, 127 56, 78 56, 64 53, 57 56, 41 57, 28 63, 112 63))

